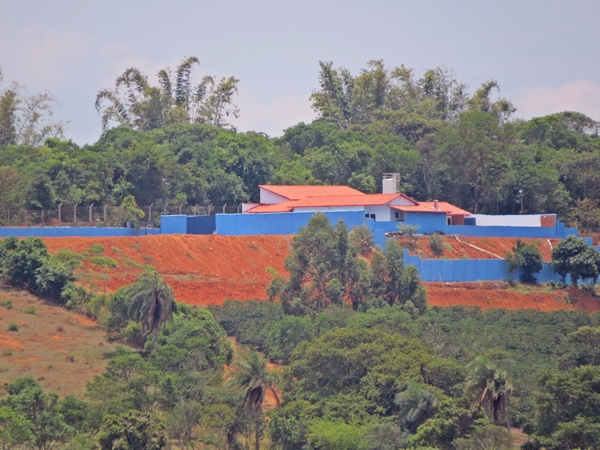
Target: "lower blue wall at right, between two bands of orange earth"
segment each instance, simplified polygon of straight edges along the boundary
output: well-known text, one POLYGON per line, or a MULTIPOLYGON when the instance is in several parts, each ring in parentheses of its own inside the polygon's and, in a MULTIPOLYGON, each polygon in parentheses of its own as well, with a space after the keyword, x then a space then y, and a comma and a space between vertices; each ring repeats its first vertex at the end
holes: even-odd
MULTIPOLYGON (((411 256, 404 250, 404 263, 412 264, 419 271, 423 281, 506 281, 509 279, 508 264, 501 259, 421 259, 411 256)), ((518 280, 520 273, 515 279, 518 280)), ((552 270, 550 263, 543 263, 543 269, 536 275, 538 283, 559 282, 560 277, 552 270)))

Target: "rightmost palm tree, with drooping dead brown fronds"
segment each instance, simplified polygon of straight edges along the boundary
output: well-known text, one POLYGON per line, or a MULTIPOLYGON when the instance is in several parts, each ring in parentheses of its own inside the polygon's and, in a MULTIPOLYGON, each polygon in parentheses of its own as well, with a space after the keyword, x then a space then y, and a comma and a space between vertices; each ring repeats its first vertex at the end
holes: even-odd
POLYGON ((494 425, 506 425, 506 400, 512 393, 512 383, 506 371, 498 369, 485 356, 478 356, 467 369, 465 393, 477 394, 471 404, 471 411, 482 406, 494 425))

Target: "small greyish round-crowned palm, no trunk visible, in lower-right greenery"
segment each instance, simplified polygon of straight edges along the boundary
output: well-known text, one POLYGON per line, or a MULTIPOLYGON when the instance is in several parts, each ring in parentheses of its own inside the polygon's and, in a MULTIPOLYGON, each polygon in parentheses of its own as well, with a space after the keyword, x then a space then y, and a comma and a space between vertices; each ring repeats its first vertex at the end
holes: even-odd
POLYGON ((432 417, 438 406, 435 395, 414 381, 409 381, 406 389, 396 394, 395 403, 400 407, 398 415, 402 428, 411 433, 432 417))

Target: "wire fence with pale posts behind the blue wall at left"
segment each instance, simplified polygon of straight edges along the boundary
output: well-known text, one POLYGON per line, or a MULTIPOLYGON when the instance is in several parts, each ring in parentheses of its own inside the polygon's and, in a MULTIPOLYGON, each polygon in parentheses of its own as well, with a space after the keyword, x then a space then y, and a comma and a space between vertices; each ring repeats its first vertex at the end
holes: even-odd
MULTIPOLYGON (((138 206, 144 211, 140 225, 160 227, 162 206, 138 206)), ((242 212, 240 205, 169 205, 167 215, 185 214, 211 216, 242 212)), ((65 205, 54 209, 4 209, 0 210, 0 226, 3 227, 124 227, 127 226, 126 211, 110 205, 65 205)))

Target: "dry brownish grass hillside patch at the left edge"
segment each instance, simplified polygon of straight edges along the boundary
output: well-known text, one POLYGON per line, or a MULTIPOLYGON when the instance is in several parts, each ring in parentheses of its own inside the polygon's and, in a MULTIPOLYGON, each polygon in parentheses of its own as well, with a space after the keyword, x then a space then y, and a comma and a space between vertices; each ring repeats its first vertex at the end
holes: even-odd
POLYGON ((0 303, 7 299, 12 299, 12 309, 0 306, 2 384, 30 376, 60 396, 81 396, 86 382, 104 371, 114 345, 84 316, 0 286, 0 303), (32 307, 35 314, 25 312, 32 307), (7 331, 9 322, 19 324, 19 331, 7 331))

